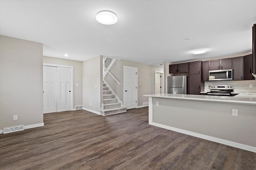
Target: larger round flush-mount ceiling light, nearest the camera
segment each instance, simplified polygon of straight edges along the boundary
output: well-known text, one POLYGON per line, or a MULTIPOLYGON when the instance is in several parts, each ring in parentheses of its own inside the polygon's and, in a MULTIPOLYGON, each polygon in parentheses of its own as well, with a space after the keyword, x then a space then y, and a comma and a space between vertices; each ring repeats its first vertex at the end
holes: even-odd
POLYGON ((105 25, 112 25, 117 22, 117 16, 114 12, 105 10, 98 12, 96 20, 105 25))

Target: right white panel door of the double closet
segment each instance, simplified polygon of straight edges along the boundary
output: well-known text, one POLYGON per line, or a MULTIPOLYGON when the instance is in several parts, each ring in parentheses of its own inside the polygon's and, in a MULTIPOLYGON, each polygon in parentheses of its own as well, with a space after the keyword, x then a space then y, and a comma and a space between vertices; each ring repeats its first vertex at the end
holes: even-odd
POLYGON ((71 68, 57 67, 57 110, 71 110, 71 68))

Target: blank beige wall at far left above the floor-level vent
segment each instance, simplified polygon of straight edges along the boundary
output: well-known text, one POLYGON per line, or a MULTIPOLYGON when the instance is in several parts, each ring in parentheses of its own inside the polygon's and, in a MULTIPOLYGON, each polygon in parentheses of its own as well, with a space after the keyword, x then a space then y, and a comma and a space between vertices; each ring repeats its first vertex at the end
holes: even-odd
POLYGON ((0 35, 0 129, 43 123, 42 63, 41 43, 0 35))

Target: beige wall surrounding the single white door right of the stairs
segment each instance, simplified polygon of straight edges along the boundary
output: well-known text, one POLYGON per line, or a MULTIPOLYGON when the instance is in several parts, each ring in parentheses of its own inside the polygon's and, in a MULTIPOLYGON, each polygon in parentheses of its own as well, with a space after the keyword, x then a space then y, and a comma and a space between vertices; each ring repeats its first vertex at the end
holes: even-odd
POLYGON ((148 102, 148 97, 143 96, 144 94, 154 94, 155 93, 155 70, 164 71, 164 68, 135 63, 126 60, 116 60, 110 72, 116 77, 116 79, 121 83, 118 85, 114 79, 107 74, 104 78, 109 86, 114 90, 116 95, 123 101, 123 88, 124 88, 124 66, 136 67, 138 68, 138 106, 142 106, 143 103, 148 102))

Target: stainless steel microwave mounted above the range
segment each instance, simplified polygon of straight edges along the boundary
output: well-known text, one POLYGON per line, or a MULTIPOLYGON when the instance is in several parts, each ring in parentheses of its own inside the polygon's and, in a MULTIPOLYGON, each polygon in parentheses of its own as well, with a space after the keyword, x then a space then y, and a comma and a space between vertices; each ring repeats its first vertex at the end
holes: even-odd
POLYGON ((211 70, 209 71, 209 81, 214 80, 233 80, 233 70, 211 70))

